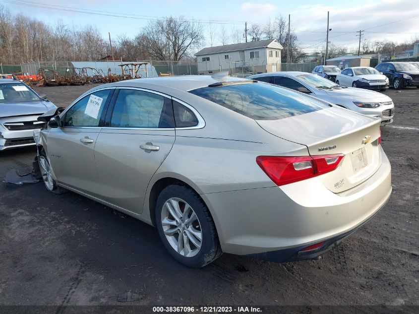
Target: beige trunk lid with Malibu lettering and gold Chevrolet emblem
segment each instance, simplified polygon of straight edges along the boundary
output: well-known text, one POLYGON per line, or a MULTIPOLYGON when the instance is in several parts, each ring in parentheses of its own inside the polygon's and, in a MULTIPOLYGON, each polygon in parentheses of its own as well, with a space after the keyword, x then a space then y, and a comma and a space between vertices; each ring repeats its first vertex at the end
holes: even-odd
POLYGON ((280 120, 258 120, 257 123, 271 134, 307 146, 312 156, 344 154, 336 170, 318 177, 335 193, 364 182, 381 164, 380 119, 331 107, 280 120))

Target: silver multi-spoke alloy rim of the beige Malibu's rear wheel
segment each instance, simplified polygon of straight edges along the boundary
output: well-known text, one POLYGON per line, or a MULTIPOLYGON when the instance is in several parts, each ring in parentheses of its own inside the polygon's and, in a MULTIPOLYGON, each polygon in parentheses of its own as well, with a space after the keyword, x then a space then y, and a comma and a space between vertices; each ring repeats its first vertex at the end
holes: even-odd
POLYGON ((172 197, 162 209, 161 224, 170 246, 184 257, 198 254, 202 246, 202 229, 192 207, 184 200, 172 197))

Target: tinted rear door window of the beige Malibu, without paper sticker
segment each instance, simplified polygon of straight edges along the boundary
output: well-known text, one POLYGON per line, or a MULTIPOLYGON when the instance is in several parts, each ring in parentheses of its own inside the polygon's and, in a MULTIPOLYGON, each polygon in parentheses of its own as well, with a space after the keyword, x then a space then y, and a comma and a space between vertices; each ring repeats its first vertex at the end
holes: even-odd
POLYGON ((134 89, 121 89, 111 118, 111 127, 175 127, 172 100, 134 89))

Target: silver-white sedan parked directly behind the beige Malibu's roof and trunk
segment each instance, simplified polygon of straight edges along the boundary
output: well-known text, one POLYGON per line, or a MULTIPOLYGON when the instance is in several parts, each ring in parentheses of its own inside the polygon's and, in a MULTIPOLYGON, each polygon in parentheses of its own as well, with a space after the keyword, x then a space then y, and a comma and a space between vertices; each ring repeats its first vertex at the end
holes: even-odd
POLYGON ((393 101, 372 90, 342 87, 307 72, 271 72, 247 78, 294 89, 360 114, 380 118, 382 126, 393 122, 393 101))

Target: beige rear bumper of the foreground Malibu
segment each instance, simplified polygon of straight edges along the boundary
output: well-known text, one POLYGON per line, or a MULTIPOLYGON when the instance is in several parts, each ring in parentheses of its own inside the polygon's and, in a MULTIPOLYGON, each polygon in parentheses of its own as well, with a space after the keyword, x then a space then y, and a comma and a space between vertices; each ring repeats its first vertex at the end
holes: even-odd
MULTIPOLYGON (((310 253, 329 250, 375 215, 391 190, 391 166, 382 152, 382 163, 369 179, 340 193, 316 177, 282 187, 201 196, 213 214, 223 251, 262 253, 281 261, 321 241, 325 244, 319 251, 310 253)), ((313 258, 307 252, 297 257, 313 258)))

